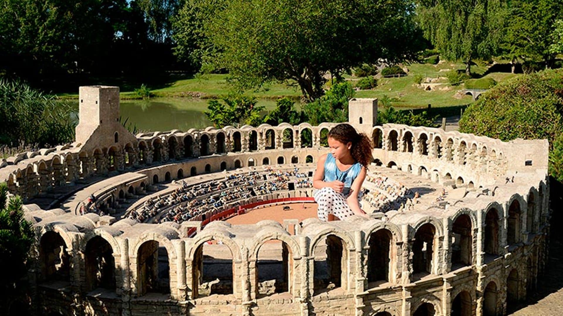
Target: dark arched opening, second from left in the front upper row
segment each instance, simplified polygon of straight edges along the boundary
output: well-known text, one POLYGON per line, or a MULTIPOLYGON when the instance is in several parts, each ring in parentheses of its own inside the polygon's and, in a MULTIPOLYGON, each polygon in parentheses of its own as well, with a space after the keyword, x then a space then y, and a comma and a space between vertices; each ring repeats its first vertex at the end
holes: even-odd
POLYGON ((108 241, 100 236, 91 238, 86 243, 84 265, 86 265, 87 291, 99 287, 115 289, 115 262, 113 249, 108 241))

